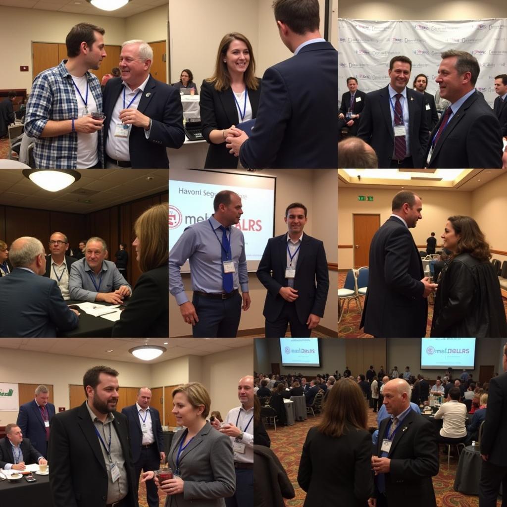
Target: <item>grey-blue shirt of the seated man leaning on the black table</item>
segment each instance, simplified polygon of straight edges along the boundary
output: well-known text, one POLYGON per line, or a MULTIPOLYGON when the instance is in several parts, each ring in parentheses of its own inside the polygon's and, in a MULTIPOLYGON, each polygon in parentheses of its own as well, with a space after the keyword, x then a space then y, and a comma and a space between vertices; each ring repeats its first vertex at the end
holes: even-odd
POLYGON ((98 274, 95 274, 90 266, 88 266, 86 258, 76 261, 70 266, 68 285, 71 299, 89 301, 90 303, 95 301, 97 292, 114 292, 122 285, 126 285, 130 289, 130 294, 132 294, 132 287, 118 271, 115 263, 111 261, 102 261, 102 268, 98 274), (93 285, 90 276, 95 279, 99 291, 97 291, 93 285), (100 279, 100 277, 102 277, 102 279, 100 279))

